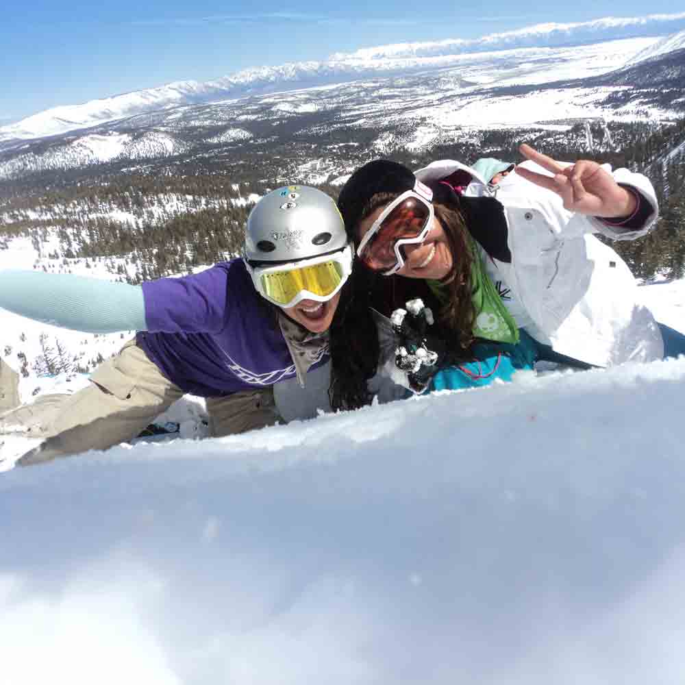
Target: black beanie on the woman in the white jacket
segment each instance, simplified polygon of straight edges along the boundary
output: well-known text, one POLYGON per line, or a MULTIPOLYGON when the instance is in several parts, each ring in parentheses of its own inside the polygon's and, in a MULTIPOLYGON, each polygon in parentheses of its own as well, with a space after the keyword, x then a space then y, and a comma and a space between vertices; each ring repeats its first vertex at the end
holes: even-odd
POLYGON ((416 177, 406 166, 390 160, 374 160, 357 169, 340 190, 338 209, 345 221, 347 236, 354 240, 354 231, 362 219, 366 203, 377 192, 401 195, 412 190, 416 177))

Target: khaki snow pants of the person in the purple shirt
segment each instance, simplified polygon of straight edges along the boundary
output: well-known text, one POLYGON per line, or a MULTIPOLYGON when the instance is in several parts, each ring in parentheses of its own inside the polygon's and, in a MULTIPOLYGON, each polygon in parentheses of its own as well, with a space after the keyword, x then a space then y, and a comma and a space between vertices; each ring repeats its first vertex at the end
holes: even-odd
MULTIPOLYGON (((47 438, 51 449, 64 456, 108 449, 137 436, 183 395, 136 341, 129 340, 95 369, 87 388, 73 395, 43 395, 0 414, 0 434, 21 431, 47 438)), ((208 397, 207 410, 213 436, 279 422, 271 388, 208 397)))

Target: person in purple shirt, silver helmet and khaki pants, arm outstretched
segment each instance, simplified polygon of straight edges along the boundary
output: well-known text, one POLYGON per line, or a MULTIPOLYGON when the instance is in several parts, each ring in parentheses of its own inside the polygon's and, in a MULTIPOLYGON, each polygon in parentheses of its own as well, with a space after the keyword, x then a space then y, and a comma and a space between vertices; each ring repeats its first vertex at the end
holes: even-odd
POLYGON ((316 188, 287 186, 250 213, 245 257, 201 273, 130 286, 4 271, 0 307, 86 332, 137 333, 87 388, 1 414, 0 434, 44 438, 19 464, 107 449, 185 393, 206 398, 214 436, 277 423, 273 385, 304 385, 329 358, 328 330, 351 286, 352 259, 335 202, 316 188))

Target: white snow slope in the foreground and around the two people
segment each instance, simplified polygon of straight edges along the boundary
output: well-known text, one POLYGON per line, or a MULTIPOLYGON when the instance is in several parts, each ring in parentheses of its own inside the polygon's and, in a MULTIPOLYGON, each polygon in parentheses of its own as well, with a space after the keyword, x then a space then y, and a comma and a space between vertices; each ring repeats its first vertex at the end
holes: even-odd
MULTIPOLYGON (((685 280, 639 292, 685 330, 685 280)), ((685 358, 515 378, 0 473, 0 682, 680 685, 685 358)))

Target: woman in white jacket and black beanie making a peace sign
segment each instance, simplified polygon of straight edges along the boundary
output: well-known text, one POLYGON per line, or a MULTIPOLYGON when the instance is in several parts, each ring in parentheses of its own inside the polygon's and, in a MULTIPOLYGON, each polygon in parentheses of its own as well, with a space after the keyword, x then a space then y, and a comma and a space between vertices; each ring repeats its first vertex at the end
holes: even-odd
MULTIPOLYGON (((593 235, 649 231, 658 216, 649 180, 588 160, 562 164, 527 145, 521 153, 527 161, 495 186, 452 160, 416 173, 387 160, 358 169, 338 199, 358 260, 427 283, 455 363, 475 358, 474 343, 519 345, 521 336, 537 359, 588 367, 663 358, 662 330, 667 353, 685 353, 685 336, 656 323, 625 262, 593 235)), ((388 287, 377 297, 378 283, 369 301, 358 297, 360 310, 382 308, 388 287)), ((336 347, 332 340, 334 386, 349 386, 350 350, 336 347)))

